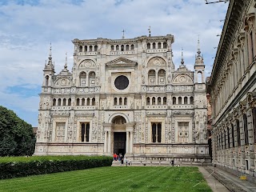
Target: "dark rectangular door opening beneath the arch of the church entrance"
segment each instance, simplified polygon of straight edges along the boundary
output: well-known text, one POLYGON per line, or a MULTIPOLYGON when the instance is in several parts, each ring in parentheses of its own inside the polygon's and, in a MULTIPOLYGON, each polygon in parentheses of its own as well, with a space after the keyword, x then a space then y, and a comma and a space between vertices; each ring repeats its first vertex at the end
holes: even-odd
POLYGON ((126 132, 114 132, 114 153, 126 154, 126 132))

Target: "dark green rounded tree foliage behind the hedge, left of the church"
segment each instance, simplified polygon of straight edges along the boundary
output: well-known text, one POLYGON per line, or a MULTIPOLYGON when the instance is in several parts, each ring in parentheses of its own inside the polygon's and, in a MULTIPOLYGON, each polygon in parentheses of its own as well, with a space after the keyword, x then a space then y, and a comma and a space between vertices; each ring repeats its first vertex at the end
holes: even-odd
POLYGON ((0 156, 32 155, 35 140, 30 124, 0 106, 0 156))

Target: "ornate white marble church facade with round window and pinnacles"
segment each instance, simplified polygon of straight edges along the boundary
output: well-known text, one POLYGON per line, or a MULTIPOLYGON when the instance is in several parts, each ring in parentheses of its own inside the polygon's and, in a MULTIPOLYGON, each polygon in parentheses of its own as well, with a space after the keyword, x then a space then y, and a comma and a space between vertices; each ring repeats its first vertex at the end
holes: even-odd
POLYGON ((174 36, 75 38, 72 72, 43 70, 35 154, 210 162, 205 65, 175 70, 174 36))

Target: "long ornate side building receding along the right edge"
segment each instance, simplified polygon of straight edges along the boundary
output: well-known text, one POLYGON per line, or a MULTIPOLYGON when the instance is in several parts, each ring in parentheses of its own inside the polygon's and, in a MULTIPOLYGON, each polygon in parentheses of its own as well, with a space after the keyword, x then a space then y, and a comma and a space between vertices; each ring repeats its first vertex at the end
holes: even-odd
POLYGON ((254 0, 232 0, 208 82, 213 163, 255 180, 256 37, 254 0))

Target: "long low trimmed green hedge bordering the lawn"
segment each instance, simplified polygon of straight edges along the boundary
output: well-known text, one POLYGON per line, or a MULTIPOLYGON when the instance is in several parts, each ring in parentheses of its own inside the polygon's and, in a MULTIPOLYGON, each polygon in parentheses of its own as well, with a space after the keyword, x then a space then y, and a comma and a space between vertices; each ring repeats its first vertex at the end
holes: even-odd
POLYGON ((111 166, 112 161, 111 157, 83 155, 0 158, 0 179, 111 166))

